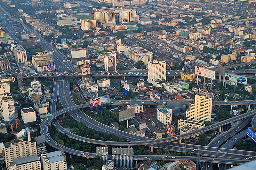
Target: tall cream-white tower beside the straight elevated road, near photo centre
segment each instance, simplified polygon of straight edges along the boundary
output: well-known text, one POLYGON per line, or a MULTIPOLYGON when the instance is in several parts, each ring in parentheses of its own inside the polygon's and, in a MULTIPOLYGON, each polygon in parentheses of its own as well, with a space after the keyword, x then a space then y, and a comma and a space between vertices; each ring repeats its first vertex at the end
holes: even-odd
MULTIPOLYGON (((166 80, 166 62, 158 60, 148 62, 148 83, 160 87, 159 82, 163 80, 166 80)), ((162 84, 161 87, 164 87, 162 84)))

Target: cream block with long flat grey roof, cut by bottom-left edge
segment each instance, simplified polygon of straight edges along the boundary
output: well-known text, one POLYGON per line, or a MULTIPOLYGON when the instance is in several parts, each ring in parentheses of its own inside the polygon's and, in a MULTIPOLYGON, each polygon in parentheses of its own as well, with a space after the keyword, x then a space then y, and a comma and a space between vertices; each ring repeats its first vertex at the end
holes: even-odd
POLYGON ((7 170, 41 170, 40 158, 36 155, 14 159, 7 165, 7 170))

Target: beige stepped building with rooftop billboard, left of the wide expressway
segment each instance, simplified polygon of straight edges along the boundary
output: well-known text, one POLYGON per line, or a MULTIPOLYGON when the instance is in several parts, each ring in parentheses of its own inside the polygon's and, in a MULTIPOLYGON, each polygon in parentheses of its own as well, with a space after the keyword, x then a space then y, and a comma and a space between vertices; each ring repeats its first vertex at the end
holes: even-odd
POLYGON ((38 72, 46 71, 47 62, 52 62, 52 61, 53 61, 52 51, 36 52, 36 55, 32 56, 32 65, 38 72))

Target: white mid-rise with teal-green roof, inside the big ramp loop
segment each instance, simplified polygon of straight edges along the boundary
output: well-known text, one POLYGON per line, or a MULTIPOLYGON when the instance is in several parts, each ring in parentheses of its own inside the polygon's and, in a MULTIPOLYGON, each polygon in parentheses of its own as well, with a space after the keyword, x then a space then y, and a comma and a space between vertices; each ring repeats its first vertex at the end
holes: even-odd
POLYGON ((157 108, 156 119, 164 125, 167 125, 168 123, 172 124, 172 109, 167 109, 166 107, 157 108))

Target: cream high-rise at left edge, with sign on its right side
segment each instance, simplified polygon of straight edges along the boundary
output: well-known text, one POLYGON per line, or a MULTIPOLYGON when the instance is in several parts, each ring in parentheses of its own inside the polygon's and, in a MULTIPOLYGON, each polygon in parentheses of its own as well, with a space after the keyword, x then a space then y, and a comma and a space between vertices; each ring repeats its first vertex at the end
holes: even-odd
POLYGON ((15 112, 12 95, 10 93, 0 94, 0 104, 1 119, 5 122, 10 121, 10 116, 15 112))

